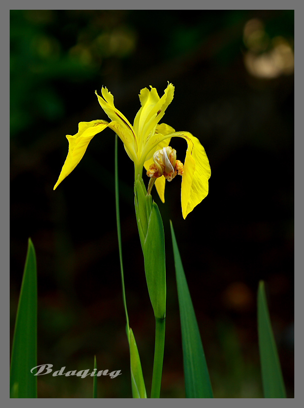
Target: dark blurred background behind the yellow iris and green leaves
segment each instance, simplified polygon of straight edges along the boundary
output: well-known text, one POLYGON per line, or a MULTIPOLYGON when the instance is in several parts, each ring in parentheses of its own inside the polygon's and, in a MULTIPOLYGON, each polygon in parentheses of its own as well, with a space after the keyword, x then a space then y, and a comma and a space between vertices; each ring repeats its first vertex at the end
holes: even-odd
MULTIPOLYGON (((180 182, 154 191, 166 234, 162 398, 184 398, 169 219, 173 221, 216 398, 261 398, 256 291, 264 279, 288 397, 293 397, 293 10, 11 10, 11 333, 28 237, 38 265, 38 364, 122 370, 99 398, 130 398, 114 206, 114 133, 91 141, 53 191, 80 121, 108 119, 95 89, 132 122, 140 89, 167 81, 163 118, 197 136, 209 195, 183 220, 180 182)), ((175 139, 180 160, 186 143, 175 139)), ((154 316, 119 144, 125 283, 150 392, 154 316)), ((147 184, 147 177, 144 176, 147 184)), ((91 398, 92 379, 38 377, 39 398, 91 398)))

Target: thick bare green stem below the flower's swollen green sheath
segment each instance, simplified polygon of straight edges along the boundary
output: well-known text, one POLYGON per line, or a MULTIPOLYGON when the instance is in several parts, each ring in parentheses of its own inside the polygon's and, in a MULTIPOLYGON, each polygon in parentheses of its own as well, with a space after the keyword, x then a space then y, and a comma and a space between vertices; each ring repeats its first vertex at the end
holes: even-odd
POLYGON ((165 344, 165 321, 165 318, 155 318, 155 351, 151 398, 160 398, 163 350, 165 344))

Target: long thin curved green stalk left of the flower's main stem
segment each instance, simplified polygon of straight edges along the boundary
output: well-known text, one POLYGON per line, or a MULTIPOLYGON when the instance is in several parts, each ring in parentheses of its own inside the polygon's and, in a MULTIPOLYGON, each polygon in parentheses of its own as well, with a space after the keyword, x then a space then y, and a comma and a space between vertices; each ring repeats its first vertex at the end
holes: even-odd
POLYGON ((129 318, 126 302, 125 280, 124 280, 124 267, 123 267, 123 254, 121 245, 121 232, 120 232, 120 214, 119 214, 119 189, 118 189, 118 136, 115 135, 115 205, 116 205, 116 224, 117 224, 117 237, 118 237, 118 249, 120 260, 120 273, 121 273, 121 285, 123 290, 123 301, 127 320, 127 335, 129 339, 129 318))

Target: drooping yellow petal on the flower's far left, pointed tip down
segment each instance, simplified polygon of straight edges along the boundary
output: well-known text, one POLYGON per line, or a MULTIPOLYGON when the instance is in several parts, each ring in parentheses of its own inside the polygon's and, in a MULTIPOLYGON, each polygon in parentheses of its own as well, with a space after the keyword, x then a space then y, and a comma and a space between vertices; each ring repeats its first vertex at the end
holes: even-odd
POLYGON ((105 120, 92 120, 91 122, 80 122, 78 133, 74 136, 67 135, 69 150, 64 162, 64 166, 59 175, 55 188, 75 169, 82 159, 90 140, 109 125, 105 120))

